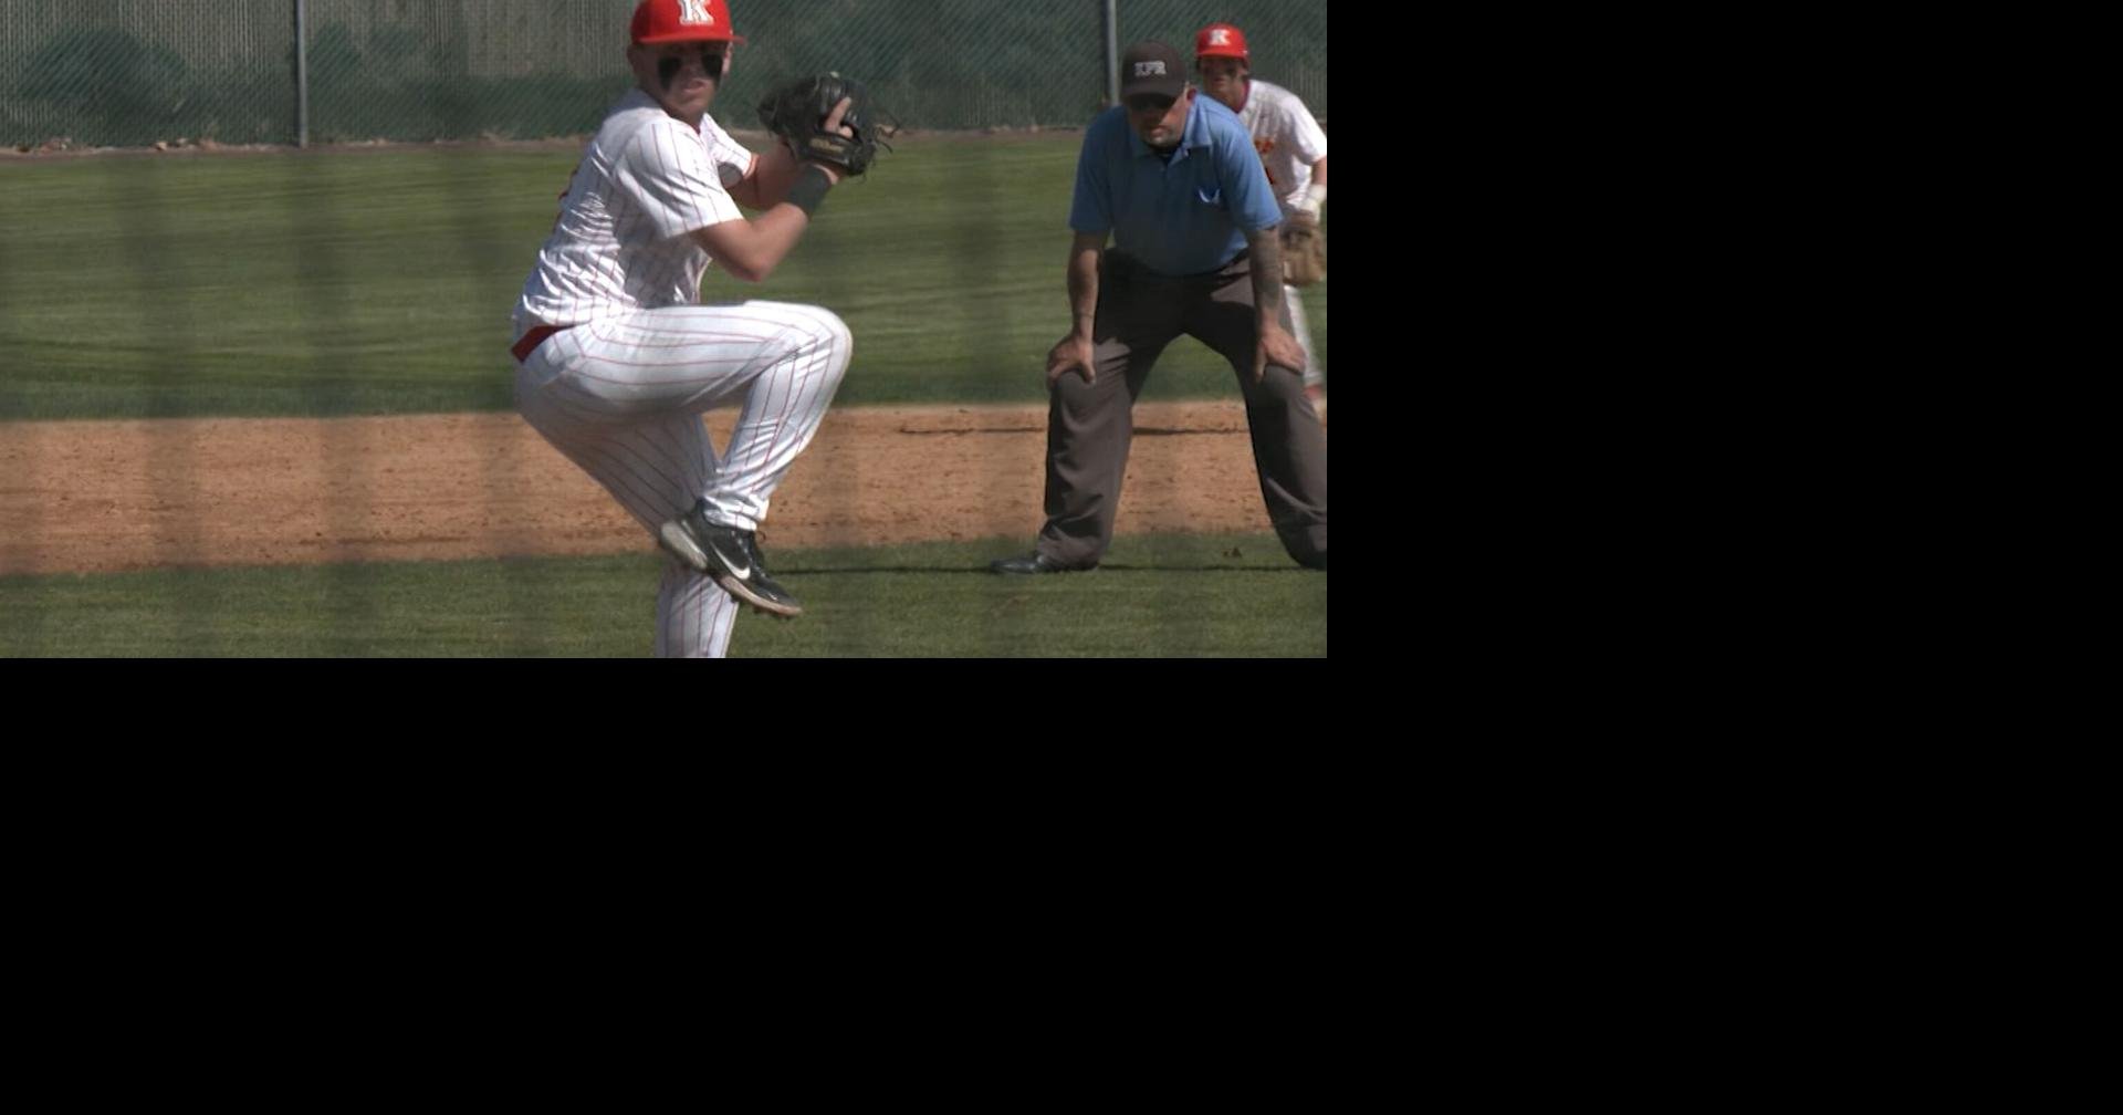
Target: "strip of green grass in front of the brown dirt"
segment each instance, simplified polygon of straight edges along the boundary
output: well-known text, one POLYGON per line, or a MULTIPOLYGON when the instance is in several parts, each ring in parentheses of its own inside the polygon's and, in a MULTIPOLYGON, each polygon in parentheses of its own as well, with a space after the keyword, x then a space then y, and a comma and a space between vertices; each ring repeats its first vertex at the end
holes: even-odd
MULTIPOLYGON (((1095 571, 998 578, 1025 539, 775 552, 805 614, 745 612, 743 658, 1323 656, 1327 576, 1274 535, 1144 535, 1095 571)), ((0 578, 4 656, 648 656, 662 559, 0 578)))

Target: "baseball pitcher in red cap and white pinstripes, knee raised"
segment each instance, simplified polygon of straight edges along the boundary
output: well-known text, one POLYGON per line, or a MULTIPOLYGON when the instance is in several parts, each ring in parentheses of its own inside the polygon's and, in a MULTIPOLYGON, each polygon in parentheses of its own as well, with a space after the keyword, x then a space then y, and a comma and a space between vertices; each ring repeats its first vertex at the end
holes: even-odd
POLYGON ((743 42, 728 0, 635 6, 637 85, 584 149, 514 314, 516 408, 671 554, 658 656, 724 656, 739 601, 802 612, 756 531, 853 355, 819 306, 698 304, 711 263, 766 278, 877 151, 868 93, 836 74, 769 96, 766 155, 732 140, 707 106, 743 42), (739 408, 722 452, 701 425, 720 406, 739 408))

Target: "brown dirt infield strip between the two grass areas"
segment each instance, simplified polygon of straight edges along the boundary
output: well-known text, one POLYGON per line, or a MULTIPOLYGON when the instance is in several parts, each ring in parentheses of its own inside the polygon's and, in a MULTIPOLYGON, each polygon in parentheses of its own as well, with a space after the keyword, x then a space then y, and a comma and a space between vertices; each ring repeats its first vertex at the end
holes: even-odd
MULTIPOLYGON (((1038 406, 834 410, 762 537, 1030 546, 1045 452, 1038 406)), ((0 423, 0 576, 654 550, 512 412, 0 423)), ((1119 533, 1265 529, 1236 399, 1136 406, 1119 533)))

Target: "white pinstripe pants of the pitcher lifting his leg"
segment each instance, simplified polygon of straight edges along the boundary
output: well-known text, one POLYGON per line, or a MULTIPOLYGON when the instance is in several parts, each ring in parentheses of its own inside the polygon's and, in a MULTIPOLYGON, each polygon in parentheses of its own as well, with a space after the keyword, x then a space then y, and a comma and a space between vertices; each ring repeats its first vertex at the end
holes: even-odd
MULTIPOLYGON (((832 310, 788 302, 667 306, 563 329, 516 370, 516 410, 652 535, 707 501, 758 529, 847 374, 853 340, 832 310), (741 406, 726 452, 701 414, 741 406)), ((720 658, 737 599, 671 561, 656 593, 656 654, 720 658)))

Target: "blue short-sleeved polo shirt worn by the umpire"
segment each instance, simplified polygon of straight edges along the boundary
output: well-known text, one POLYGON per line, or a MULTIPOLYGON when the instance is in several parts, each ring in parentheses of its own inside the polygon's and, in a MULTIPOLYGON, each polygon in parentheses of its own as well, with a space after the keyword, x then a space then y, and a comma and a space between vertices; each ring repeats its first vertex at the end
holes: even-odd
POLYGON ((1106 108, 1083 134, 1068 225, 1110 229, 1115 248, 1157 274, 1212 272, 1246 246, 1248 231, 1280 221, 1253 136, 1208 93, 1187 108, 1170 164, 1127 125, 1127 108, 1106 108))

